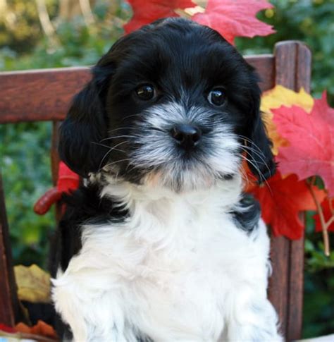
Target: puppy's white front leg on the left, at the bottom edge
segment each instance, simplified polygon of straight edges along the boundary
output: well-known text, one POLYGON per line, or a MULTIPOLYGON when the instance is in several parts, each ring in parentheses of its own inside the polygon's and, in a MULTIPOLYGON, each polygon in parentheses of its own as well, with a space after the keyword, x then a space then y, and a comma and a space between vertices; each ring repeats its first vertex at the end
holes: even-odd
POLYGON ((75 342, 128 341, 117 295, 98 288, 96 276, 91 274, 87 281, 87 274, 68 272, 54 279, 52 298, 56 311, 70 326, 75 342))

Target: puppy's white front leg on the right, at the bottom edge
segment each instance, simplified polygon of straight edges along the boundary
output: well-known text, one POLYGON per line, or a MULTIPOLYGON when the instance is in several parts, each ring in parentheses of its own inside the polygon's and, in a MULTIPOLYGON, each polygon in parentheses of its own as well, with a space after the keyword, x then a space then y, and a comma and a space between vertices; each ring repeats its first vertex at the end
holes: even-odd
POLYGON ((247 298, 240 291, 230 298, 230 314, 227 317, 228 341, 272 342, 283 341, 278 334, 277 314, 266 298, 247 298))

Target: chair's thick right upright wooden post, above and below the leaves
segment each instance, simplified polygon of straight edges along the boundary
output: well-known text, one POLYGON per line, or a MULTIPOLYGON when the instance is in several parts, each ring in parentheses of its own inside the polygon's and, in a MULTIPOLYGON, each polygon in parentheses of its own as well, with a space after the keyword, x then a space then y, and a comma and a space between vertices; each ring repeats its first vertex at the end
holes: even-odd
MULTIPOLYGON (((276 84, 292 90, 304 87, 309 92, 311 53, 300 42, 281 42, 275 49, 276 84)), ((272 238, 273 276, 269 298, 280 316, 281 330, 287 341, 302 334, 304 292, 304 238, 272 238)))

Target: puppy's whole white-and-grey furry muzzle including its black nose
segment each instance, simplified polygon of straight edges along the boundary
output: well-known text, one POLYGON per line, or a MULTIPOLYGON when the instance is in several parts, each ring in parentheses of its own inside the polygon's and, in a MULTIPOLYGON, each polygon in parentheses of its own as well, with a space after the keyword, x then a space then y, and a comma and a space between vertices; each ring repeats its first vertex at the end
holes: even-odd
POLYGON ((215 112, 173 103, 143 116, 122 147, 125 161, 114 164, 125 181, 183 191, 211 187, 239 172, 240 142, 227 123, 214 120, 215 112))

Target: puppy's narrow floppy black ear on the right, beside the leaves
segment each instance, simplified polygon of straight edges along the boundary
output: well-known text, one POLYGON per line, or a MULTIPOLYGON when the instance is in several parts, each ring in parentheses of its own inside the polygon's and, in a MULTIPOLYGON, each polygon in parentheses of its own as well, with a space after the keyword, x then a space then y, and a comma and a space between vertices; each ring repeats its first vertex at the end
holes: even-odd
POLYGON ((247 145, 247 159, 249 169, 256 176, 259 183, 266 181, 276 171, 276 163, 271 152, 272 142, 266 133, 264 122, 261 118, 259 87, 252 90, 252 122, 249 125, 247 145))

